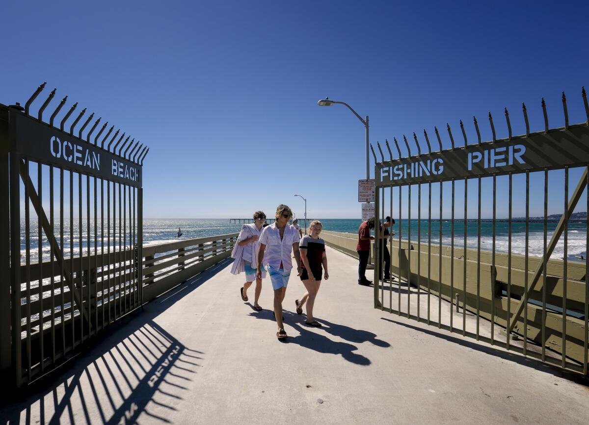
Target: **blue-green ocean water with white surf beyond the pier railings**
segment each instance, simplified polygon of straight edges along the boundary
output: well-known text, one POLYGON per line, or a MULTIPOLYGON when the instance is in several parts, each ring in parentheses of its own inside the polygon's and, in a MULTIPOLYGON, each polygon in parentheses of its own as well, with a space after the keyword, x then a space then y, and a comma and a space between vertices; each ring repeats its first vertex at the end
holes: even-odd
MULTIPOLYGON (((362 221, 359 219, 336 219, 326 218, 321 220, 324 230, 350 233, 356 235, 358 227, 362 221)), ((310 220, 307 221, 307 224, 310 220)), ((80 255, 80 222, 74 220, 74 234, 70 238, 70 221, 64 221, 64 247, 65 258, 70 256, 70 247, 72 254, 80 255)), ((88 249, 87 245, 87 225, 86 220, 82 220, 82 244, 84 253, 88 249)), ((127 223, 127 227, 130 223, 127 223)), ((304 220, 300 220, 300 225, 305 226, 304 220)), ((452 242, 452 223, 451 220, 442 220, 442 244, 450 245, 452 242)), ((547 243, 557 223, 547 224, 547 243)), ((213 235, 236 233, 239 232, 241 224, 229 223, 228 218, 214 218, 214 219, 168 219, 168 218, 147 218, 143 221, 143 242, 144 245, 153 245, 166 242, 178 241, 176 233, 178 227, 181 228, 183 235, 181 239, 200 238, 213 235)), ((100 221, 97 223, 97 250, 100 253, 102 247, 100 221)), ((409 228, 409 221, 402 220, 401 223, 397 221, 392 227, 392 231, 396 233, 395 237, 403 239, 409 238, 409 231, 411 231, 411 240, 418 241, 421 239, 422 243, 428 243, 428 221, 411 220, 411 229, 409 228), (421 225, 421 234, 418 235, 419 227, 421 225), (399 230, 399 228, 401 230, 399 230)), ((107 238, 107 229, 105 224, 104 229, 104 247, 108 246, 109 240, 107 238)), ((94 252, 94 220, 90 220, 90 250, 94 252)), ((112 229, 111 229, 112 233, 112 229)), ((29 261, 31 263, 38 261, 38 225, 36 220, 30 221, 29 229, 29 261)), ((478 239, 478 224, 476 221, 469 221, 466 225, 466 246, 469 248, 477 248, 478 239)), ((55 223, 55 235, 59 243, 59 222, 55 223)), ((587 255, 587 226, 585 223, 569 223, 568 225, 568 240, 567 256, 571 260, 578 260, 576 255, 587 255)), ((118 229, 117 236, 118 238, 118 229)), ((49 260, 49 244, 47 238, 43 237, 42 257, 44 261, 49 260)), ((432 244, 439 244, 440 240, 440 223, 439 221, 432 221, 431 223, 431 242, 432 244)), ((118 239, 110 238, 111 246, 115 245, 118 249, 118 239)), ((128 240, 127 240, 128 243, 128 240)), ((455 220, 454 222, 454 245, 462 247, 464 245, 464 221, 455 220)), ((481 249, 491 250, 493 246, 493 224, 487 221, 481 223, 481 249)), ((511 252, 515 254, 525 253, 525 223, 511 224, 511 252)), ((25 246, 25 223, 21 223, 21 262, 24 264, 26 260, 26 246, 25 246)), ((495 250, 497 252, 508 252, 509 248, 509 224, 504 221, 497 221, 495 223, 495 250)), ((530 223, 528 234, 528 253, 530 255, 541 257, 544 251, 544 223, 530 223)), ((551 258, 564 257, 564 235, 558 241, 557 247, 554 250, 551 258)))

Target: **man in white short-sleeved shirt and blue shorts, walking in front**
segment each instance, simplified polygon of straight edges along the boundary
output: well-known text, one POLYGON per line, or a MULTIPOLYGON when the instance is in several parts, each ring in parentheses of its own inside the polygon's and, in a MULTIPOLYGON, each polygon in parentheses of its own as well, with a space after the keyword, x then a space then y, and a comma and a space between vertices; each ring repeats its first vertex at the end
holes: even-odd
POLYGON ((286 286, 289 284, 290 271, 293 268, 291 254, 297 265, 297 275, 302 274, 300 268, 300 236, 293 225, 289 224, 293 216, 292 210, 287 205, 280 204, 276 208, 276 221, 262 230, 260 236, 260 251, 258 253, 256 277, 262 277, 263 266, 272 281, 274 290, 274 317, 278 331, 276 337, 279 340, 287 337, 283 326, 282 301, 286 295, 286 286))

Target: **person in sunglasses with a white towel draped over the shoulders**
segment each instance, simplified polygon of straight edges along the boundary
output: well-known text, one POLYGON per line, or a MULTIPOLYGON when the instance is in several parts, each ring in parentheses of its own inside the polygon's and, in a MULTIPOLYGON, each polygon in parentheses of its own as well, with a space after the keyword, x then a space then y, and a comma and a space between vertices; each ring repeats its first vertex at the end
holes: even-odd
POLYGON ((263 211, 256 211, 254 213, 254 222, 251 224, 244 224, 241 226, 237 242, 231 252, 231 257, 235 258, 231 273, 239 274, 241 271, 246 273, 246 283, 240 288, 241 300, 247 302, 247 290, 254 279, 256 280, 256 291, 254 295, 253 308, 256 311, 261 311, 262 307, 258 304, 260 293, 262 292, 262 278, 266 277, 266 270, 262 268, 262 274, 256 276, 256 264, 258 252, 260 250, 260 235, 262 234, 262 224, 266 220, 266 214, 263 211))

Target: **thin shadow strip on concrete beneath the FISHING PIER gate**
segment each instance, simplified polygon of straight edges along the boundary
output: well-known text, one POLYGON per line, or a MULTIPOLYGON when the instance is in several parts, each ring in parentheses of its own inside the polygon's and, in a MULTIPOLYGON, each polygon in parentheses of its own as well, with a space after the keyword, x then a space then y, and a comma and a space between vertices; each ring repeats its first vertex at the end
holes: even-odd
POLYGON ((551 374, 552 376, 558 376, 561 378, 565 378, 567 380, 573 381, 578 384, 583 384, 584 386, 589 387, 589 378, 580 376, 577 373, 572 371, 564 370, 564 369, 557 369, 553 366, 548 364, 541 363, 540 361, 536 360, 535 358, 524 357, 521 354, 510 353, 509 351, 504 351, 502 348, 495 348, 492 346, 487 346, 484 343, 478 343, 477 341, 468 340, 464 338, 454 337, 452 335, 446 335, 444 333, 431 330, 428 328, 422 328, 419 326, 413 326, 409 323, 403 323, 401 321, 391 320, 386 317, 381 317, 382 320, 386 320, 388 322, 398 324, 401 326, 405 326, 406 328, 410 328, 413 330, 420 331, 422 333, 435 336, 437 338, 441 338, 443 340, 449 341, 454 344, 458 344, 459 346, 471 348, 471 350, 481 351, 482 353, 489 354, 490 356, 499 357, 503 360, 512 361, 513 363, 521 364, 523 366, 530 367, 535 370, 540 370, 542 372, 551 374))

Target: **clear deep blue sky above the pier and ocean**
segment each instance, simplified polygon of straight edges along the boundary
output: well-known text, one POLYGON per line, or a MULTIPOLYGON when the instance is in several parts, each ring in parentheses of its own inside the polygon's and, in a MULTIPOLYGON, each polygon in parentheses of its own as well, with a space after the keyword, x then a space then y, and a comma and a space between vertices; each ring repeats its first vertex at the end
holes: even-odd
MULTIPOLYGON (((461 140, 461 118, 475 140, 472 116, 486 123, 488 111, 506 137, 504 107, 522 134, 521 102, 541 130, 541 97, 560 126, 562 91, 571 124, 582 122, 587 12, 566 1, 9 2, 0 102, 24 103, 47 81, 147 143, 147 218, 272 215, 279 203, 302 217, 294 193, 309 217, 355 218, 364 129, 318 99, 368 114, 375 145, 446 122, 461 140)), ((481 133, 491 138, 488 125, 481 133)), ((562 209, 558 178, 549 213, 562 209)))

